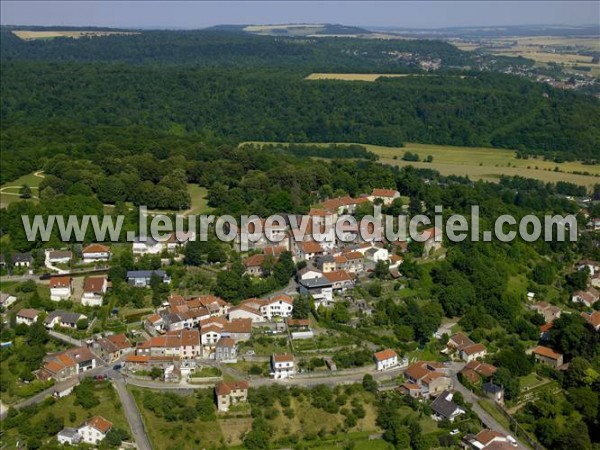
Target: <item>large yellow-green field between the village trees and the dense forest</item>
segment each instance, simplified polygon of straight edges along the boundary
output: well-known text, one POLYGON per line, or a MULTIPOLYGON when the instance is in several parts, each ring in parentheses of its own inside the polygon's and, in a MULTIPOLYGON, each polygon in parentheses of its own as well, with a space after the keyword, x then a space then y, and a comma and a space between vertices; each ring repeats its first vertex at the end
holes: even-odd
MULTIPOLYGON (((254 143, 261 144, 261 142, 254 143)), ((263 143, 266 144, 266 142, 263 143)), ((541 156, 517 159, 514 150, 415 143, 406 143, 404 147, 358 144, 377 154, 380 162, 384 164, 434 169, 442 175, 469 176, 472 180, 498 181, 501 175, 508 175, 551 183, 568 181, 586 187, 600 183, 599 165, 585 165, 575 161, 559 164, 553 161, 544 161, 541 156), (405 152, 418 154, 421 161, 403 161, 402 157, 405 152), (433 156, 433 162, 423 161, 428 155, 433 156), (558 172, 555 171, 557 167, 558 172), (579 175, 574 172, 587 172, 589 175, 579 175)))

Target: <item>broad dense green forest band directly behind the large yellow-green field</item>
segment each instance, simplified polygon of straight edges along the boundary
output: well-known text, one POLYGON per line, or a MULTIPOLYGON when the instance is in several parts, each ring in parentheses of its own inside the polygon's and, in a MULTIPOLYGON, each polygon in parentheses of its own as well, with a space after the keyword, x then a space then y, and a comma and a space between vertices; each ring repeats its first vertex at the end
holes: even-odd
POLYGON ((7 62, 2 80, 3 182, 48 147, 77 152, 105 126, 229 142, 498 146, 565 159, 600 151, 598 100, 492 73, 348 83, 258 69, 7 62))

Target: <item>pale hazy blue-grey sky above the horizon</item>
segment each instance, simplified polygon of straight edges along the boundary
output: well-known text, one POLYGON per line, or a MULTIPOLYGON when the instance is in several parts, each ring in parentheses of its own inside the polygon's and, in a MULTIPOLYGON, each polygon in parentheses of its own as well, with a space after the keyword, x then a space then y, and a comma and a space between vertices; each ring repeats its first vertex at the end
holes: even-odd
POLYGON ((448 27, 600 23, 598 1, 21 1, 2 0, 1 23, 202 28, 290 22, 448 27))

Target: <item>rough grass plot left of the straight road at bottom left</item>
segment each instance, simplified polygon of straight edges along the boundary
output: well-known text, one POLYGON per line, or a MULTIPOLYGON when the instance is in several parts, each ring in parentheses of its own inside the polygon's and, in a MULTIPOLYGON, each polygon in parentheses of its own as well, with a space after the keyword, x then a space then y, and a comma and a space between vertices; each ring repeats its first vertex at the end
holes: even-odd
MULTIPOLYGON (((38 411, 27 420, 30 423, 43 424, 49 414, 63 420, 66 427, 77 427, 81 425, 86 418, 101 415, 106 420, 113 423, 117 428, 126 430, 130 435, 129 425, 123 413, 121 402, 117 392, 109 382, 100 382, 95 385, 94 394, 100 403, 90 409, 84 409, 80 405, 75 405, 75 395, 71 394, 60 399, 48 399, 42 402, 38 411)), ((2 436, 3 445, 6 448, 16 448, 16 441, 23 441, 26 436, 21 436, 18 429, 3 427, 2 436)))

